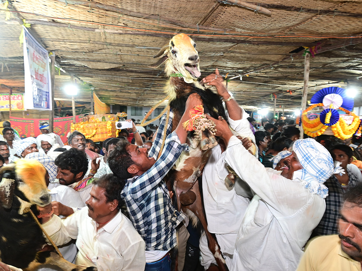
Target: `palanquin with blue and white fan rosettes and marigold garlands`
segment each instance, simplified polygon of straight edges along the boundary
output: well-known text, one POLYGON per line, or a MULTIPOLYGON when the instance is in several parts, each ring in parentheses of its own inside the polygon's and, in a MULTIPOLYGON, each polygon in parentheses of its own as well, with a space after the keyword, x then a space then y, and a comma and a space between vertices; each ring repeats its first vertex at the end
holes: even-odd
MULTIPOLYGON (((361 133, 361 120, 352 112, 354 100, 340 87, 327 87, 317 91, 311 99, 311 106, 302 112, 299 122, 308 136, 334 135, 342 140, 361 133), (321 112, 312 110, 322 107, 321 112)), ((320 110, 318 110, 320 111, 320 110)))

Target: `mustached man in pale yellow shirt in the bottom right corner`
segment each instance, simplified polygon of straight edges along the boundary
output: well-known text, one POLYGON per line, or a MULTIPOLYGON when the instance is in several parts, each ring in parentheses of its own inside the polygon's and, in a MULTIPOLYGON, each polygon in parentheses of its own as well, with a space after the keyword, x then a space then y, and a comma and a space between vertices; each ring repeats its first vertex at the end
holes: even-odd
POLYGON ((297 271, 361 271, 362 263, 362 183, 344 193, 339 234, 313 239, 297 271))

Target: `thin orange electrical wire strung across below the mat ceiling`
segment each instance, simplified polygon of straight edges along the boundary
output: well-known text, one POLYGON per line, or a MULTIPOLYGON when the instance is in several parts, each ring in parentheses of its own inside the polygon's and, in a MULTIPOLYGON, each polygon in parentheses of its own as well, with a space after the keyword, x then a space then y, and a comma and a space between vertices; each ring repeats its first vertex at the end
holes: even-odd
MULTIPOLYGON (((24 11, 17 11, 17 10, 8 10, 8 9, 0 9, 4 12, 13 12, 13 13, 23 13, 23 14, 29 14, 29 15, 35 15, 35 16, 41 16, 44 18, 49 19, 56 19, 56 20, 64 20, 64 21, 73 21, 73 22, 83 22, 83 23, 89 23, 92 25, 102 25, 102 26, 113 26, 113 27, 119 27, 123 29, 130 29, 132 31, 140 31, 140 32, 152 32, 152 33, 159 33, 159 34, 169 34, 169 35, 175 35, 178 34, 176 32, 164 32, 164 31, 157 31, 157 30, 151 30, 151 29, 138 29, 134 27, 129 26, 121 26, 121 25, 113 25, 110 23, 100 23, 100 22, 93 22, 93 21, 86 21, 86 20, 79 20, 79 19, 73 19, 73 18, 59 18, 59 17, 51 17, 43 14, 38 13, 32 13, 32 12, 24 12, 24 11)), ((262 36, 262 35, 206 35, 206 34, 189 34, 190 36, 206 36, 206 37, 239 37, 239 38, 336 38, 336 39, 350 39, 350 38, 362 38, 362 36, 307 36, 307 35, 273 35, 273 36, 262 36)))

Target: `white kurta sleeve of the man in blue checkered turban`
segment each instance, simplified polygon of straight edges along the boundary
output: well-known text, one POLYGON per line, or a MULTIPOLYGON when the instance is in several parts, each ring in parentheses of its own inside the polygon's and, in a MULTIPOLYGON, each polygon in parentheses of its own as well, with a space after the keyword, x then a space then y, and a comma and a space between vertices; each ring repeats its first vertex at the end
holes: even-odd
POLYGON ((226 162, 263 201, 274 210, 274 216, 288 216, 310 201, 312 194, 299 181, 280 176, 274 169, 265 168, 251 155, 235 136, 226 149, 226 162))

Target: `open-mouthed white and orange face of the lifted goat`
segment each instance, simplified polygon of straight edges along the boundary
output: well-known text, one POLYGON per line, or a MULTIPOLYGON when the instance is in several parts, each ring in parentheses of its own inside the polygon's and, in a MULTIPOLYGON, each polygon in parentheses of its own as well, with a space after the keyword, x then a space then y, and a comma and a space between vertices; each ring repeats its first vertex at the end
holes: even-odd
POLYGON ((169 50, 166 51, 166 68, 172 67, 175 72, 182 73, 185 79, 192 81, 200 77, 199 55, 195 48, 196 43, 188 35, 181 33, 174 36, 169 42, 169 50))

